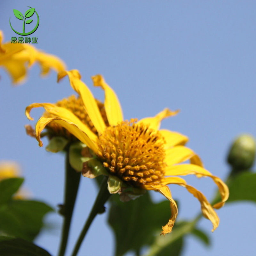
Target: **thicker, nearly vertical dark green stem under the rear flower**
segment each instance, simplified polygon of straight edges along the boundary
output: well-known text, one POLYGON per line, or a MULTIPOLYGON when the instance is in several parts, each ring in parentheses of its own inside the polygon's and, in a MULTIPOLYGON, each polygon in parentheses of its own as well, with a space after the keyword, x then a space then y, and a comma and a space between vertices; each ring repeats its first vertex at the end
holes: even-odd
POLYGON ((62 237, 60 243, 59 256, 64 255, 68 242, 68 234, 73 214, 74 205, 76 202, 76 194, 79 186, 81 177, 80 172, 76 172, 69 164, 69 148, 66 154, 66 180, 65 180, 65 201, 63 206, 64 223, 62 226, 62 237))

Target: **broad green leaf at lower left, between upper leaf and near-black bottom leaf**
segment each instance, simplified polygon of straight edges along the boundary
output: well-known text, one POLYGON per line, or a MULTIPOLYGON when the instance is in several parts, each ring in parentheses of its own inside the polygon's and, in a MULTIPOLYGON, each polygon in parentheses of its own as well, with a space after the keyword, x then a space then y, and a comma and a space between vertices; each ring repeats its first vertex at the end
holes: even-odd
POLYGON ((11 200, 0 208, 0 232, 33 241, 52 208, 32 200, 11 200))

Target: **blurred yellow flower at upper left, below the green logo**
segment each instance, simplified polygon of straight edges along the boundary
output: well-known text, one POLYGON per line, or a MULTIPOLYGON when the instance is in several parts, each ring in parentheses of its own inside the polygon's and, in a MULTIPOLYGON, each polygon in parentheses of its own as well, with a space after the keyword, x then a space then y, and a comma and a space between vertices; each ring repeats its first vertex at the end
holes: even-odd
POLYGON ((3 66, 17 84, 26 78, 27 69, 35 62, 41 66, 41 75, 45 76, 50 69, 56 72, 65 70, 65 64, 58 57, 37 50, 29 44, 2 43, 3 33, 0 30, 0 66, 3 66))

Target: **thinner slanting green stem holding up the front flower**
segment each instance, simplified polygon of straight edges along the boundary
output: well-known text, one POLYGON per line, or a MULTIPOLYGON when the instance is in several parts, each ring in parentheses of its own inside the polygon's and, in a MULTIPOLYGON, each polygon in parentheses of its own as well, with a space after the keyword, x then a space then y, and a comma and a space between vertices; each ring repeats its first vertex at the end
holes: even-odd
POLYGON ((104 204, 107 202, 108 198, 110 197, 111 194, 109 194, 108 192, 108 183, 107 183, 107 180, 108 180, 108 177, 105 177, 103 180, 102 180, 102 183, 100 185, 100 191, 99 191, 99 194, 92 206, 92 210, 89 214, 89 217, 88 219, 86 220, 85 224, 84 224, 84 228, 76 242, 76 245, 75 245, 75 248, 72 252, 72 255, 73 256, 76 256, 83 240, 84 240, 84 237, 90 227, 90 225, 92 224, 92 221, 94 220, 95 216, 102 211, 102 208, 104 207, 104 204))

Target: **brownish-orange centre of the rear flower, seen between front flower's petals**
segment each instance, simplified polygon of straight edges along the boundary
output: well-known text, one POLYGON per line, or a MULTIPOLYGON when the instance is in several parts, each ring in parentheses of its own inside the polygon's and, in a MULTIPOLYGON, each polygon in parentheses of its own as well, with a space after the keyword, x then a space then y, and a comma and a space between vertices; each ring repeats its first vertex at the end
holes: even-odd
MULTIPOLYGON (((105 122, 106 125, 108 124, 108 119, 106 115, 106 111, 104 108, 104 104, 100 102, 99 100, 96 100, 98 107, 100 109, 100 114, 105 122)), ((75 116, 77 116, 84 124, 86 124, 92 132, 95 134, 98 134, 96 128, 92 124, 92 121, 90 117, 88 116, 85 108, 84 108, 84 102, 81 99, 81 97, 76 97, 75 95, 71 95, 68 98, 62 99, 60 101, 57 101, 55 103, 56 106, 66 108, 70 112, 72 112, 75 116)), ((52 117, 49 113, 45 112, 43 114, 44 117, 52 117)), ((74 135, 72 135, 70 132, 68 132, 65 128, 61 127, 58 124, 49 123, 47 124, 46 128, 50 132, 50 137, 53 136, 62 136, 67 139, 77 140, 74 135)))

